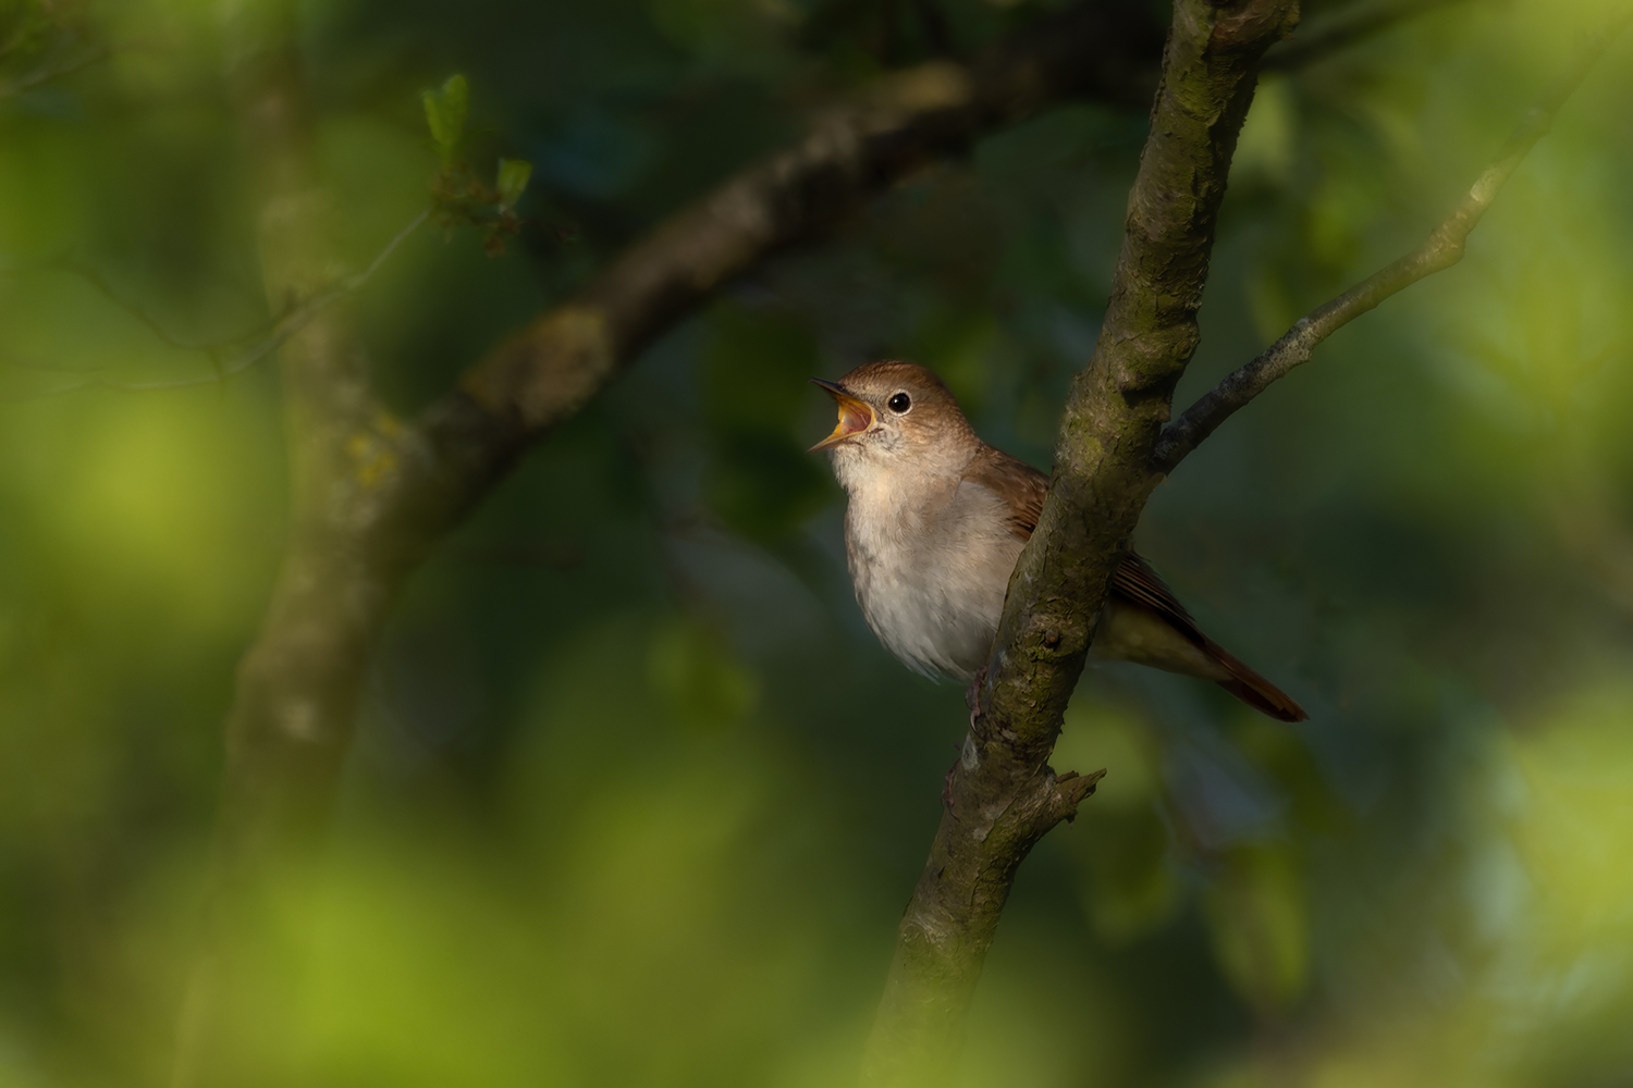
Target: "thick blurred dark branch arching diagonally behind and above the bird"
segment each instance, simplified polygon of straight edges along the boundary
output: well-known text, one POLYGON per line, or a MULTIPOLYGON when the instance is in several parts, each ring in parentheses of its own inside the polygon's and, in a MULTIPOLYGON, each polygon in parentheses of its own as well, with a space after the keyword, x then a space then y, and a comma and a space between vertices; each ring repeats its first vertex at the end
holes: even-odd
MULTIPOLYGON (((1391 23, 1375 21, 1370 29, 1391 23)), ((1329 36, 1297 65, 1355 38, 1329 36)), ((1145 106, 1161 41, 1161 29, 1137 5, 1089 0, 973 64, 910 69, 820 117, 803 140, 632 245, 426 409, 415 437, 429 460, 410 470, 423 476, 403 496, 405 537, 434 537, 457 520, 516 457, 572 418, 710 292, 833 230, 921 163, 1061 100, 1145 106)))

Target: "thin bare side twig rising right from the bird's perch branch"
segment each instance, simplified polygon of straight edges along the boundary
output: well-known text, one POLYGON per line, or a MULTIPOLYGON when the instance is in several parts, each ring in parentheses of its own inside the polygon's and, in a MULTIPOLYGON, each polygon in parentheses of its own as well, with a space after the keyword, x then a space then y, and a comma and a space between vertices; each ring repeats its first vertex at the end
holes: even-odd
POLYGON ((1293 367, 1308 362, 1316 344, 1390 295, 1462 261, 1470 232, 1491 207, 1502 183, 1519 168, 1537 140, 1553 127, 1553 119, 1566 100, 1630 21, 1633 21, 1633 3, 1623 3, 1599 34, 1582 42, 1564 77, 1525 113, 1497 158, 1481 171, 1462 204, 1444 223, 1434 228, 1421 246, 1298 318, 1293 328, 1287 329, 1257 359, 1228 375, 1202 400, 1187 408, 1179 419, 1163 429, 1156 450, 1151 453, 1151 467, 1156 471, 1171 473, 1236 409, 1246 406, 1293 367))

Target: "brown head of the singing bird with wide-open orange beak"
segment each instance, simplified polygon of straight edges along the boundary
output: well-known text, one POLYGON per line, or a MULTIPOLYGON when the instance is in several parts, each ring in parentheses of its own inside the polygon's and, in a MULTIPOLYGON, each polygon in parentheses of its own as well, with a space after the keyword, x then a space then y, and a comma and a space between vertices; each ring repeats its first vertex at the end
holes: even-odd
POLYGON ((867 362, 838 382, 812 378, 839 406, 833 434, 812 450, 833 450, 834 467, 959 471, 977 449, 959 401, 914 362, 867 362))

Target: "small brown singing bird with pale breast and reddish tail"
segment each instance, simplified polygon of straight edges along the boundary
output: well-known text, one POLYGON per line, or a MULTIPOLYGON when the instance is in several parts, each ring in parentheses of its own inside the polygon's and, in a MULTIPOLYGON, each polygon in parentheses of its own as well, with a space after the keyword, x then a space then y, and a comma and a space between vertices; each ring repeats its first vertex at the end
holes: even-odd
MULTIPOLYGON (((838 382, 812 382, 839 411, 810 452, 828 452, 848 496, 844 553, 862 617, 914 672, 973 680, 1048 476, 977 437, 952 391, 914 362, 867 362, 838 382)), ((1089 652, 1213 680, 1279 721, 1308 718, 1204 635, 1133 551, 1112 574, 1089 652)))

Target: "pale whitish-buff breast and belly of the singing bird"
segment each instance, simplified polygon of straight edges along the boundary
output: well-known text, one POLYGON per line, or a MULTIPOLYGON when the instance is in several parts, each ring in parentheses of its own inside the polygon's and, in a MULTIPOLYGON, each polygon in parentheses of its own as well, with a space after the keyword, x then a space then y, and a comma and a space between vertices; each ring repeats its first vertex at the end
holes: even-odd
POLYGON ((986 664, 1022 542, 996 494, 949 481, 919 501, 851 489, 846 556, 879 641, 910 669, 970 679, 986 664))

